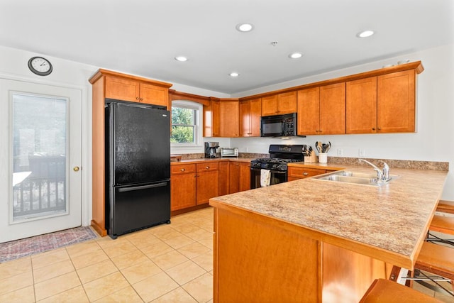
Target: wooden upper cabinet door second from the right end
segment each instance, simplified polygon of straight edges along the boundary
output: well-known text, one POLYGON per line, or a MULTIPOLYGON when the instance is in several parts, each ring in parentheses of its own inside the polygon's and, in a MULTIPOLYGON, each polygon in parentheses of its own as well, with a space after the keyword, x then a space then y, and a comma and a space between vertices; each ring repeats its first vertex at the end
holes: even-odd
POLYGON ((377 77, 346 84, 346 133, 377 133, 377 77))

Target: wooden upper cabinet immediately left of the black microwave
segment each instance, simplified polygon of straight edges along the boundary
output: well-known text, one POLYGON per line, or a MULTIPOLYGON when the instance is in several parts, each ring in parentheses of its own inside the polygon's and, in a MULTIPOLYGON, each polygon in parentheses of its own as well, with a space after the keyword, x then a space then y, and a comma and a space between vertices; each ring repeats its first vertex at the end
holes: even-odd
POLYGON ((240 137, 260 137, 262 99, 240 101, 240 137))

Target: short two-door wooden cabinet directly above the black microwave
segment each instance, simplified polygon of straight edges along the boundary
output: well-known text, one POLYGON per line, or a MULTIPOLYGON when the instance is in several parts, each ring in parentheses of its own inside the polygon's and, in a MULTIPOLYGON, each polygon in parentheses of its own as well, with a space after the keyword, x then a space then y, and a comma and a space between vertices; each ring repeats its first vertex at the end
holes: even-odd
POLYGON ((262 97, 262 116, 292 114, 297 112, 297 92, 284 92, 262 97))

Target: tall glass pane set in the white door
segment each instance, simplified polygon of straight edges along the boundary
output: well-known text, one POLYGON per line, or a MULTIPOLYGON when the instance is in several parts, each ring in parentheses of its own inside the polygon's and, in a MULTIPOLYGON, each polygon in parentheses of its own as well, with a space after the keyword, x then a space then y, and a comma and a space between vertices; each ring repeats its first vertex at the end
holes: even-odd
POLYGON ((12 94, 13 221, 67 214, 67 99, 12 94))

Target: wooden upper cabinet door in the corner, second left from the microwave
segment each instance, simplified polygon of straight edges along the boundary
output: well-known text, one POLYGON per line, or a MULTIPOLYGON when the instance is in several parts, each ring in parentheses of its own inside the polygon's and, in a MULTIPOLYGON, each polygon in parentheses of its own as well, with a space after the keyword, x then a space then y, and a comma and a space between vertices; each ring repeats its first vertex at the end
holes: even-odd
POLYGON ((238 137, 240 133, 240 101, 222 99, 219 105, 220 137, 238 137))

